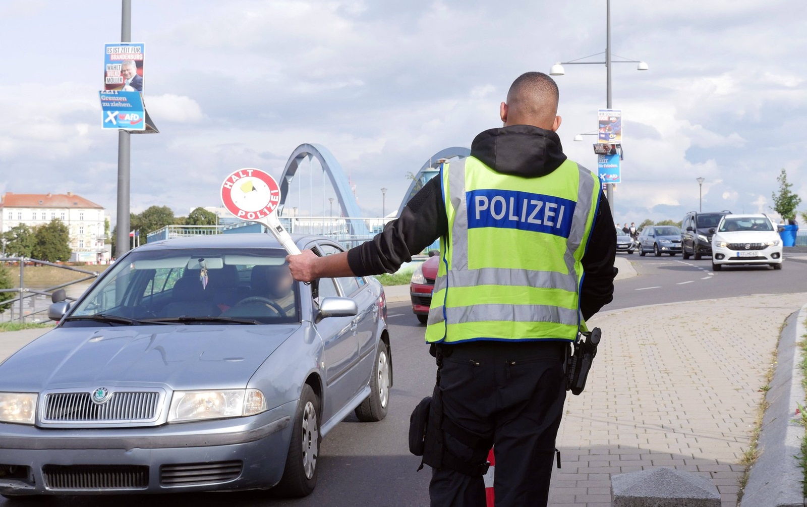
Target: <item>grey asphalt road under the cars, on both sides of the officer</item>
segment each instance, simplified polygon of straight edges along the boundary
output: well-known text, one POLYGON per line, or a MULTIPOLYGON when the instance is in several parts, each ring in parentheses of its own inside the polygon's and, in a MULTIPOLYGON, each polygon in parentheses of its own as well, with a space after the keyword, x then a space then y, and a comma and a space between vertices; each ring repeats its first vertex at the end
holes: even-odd
MULTIPOLYGON (((615 300, 603 311, 675 301, 802 292, 807 279, 807 261, 797 259, 786 259, 783 270, 734 267, 717 273, 711 271, 708 258, 684 261, 679 256, 642 258, 633 254, 629 259, 638 276, 617 282, 615 300)), ((395 386, 387 418, 378 423, 360 423, 350 417, 328 434, 322 443, 319 483, 310 497, 282 500, 271 498, 266 492, 165 495, 149 497, 149 506, 220 502, 227 502, 228 507, 429 505, 430 471, 428 467, 416 471, 420 459, 408 453, 406 436, 412 408, 433 388, 434 362, 423 343, 424 326, 412 315, 408 304, 390 304, 389 328, 395 386)), ((119 496, 43 499, 26 504, 127 507, 143 502, 143 497, 119 496)), ((0 499, 0 505, 11 507, 18 503, 0 499)))

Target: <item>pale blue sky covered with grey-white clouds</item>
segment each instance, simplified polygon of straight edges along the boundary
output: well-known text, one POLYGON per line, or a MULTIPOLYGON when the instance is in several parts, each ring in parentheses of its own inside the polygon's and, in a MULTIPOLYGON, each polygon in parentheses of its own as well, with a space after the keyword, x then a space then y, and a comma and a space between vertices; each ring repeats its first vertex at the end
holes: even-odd
MULTIPOLYGON (((133 0, 161 133, 132 136, 132 212, 219 206, 233 170, 280 178, 295 147, 317 143, 365 216, 389 213, 408 172, 501 127, 518 75, 603 52, 605 12, 605 0, 133 0)), ((613 65, 617 222, 681 220, 699 207, 699 177, 704 211, 773 216, 783 168, 807 210, 802 2, 613 0, 611 18, 613 54, 650 67, 613 65)), ((114 222, 118 136, 102 131, 98 90, 103 44, 118 40, 120 2, 0 0, 0 193, 72 191, 114 222)), ((573 139, 596 129, 605 67, 565 68, 558 135, 596 170, 596 138, 573 139)), ((286 207, 328 214, 332 195, 318 163, 303 163, 286 207)))

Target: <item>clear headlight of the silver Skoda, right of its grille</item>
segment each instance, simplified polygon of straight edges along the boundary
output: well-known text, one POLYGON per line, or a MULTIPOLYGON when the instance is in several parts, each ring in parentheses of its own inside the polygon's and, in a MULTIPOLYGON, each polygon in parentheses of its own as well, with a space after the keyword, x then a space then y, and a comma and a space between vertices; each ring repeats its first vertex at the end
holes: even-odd
POLYGON ((174 391, 169 422, 246 417, 266 412, 266 398, 257 389, 174 391))

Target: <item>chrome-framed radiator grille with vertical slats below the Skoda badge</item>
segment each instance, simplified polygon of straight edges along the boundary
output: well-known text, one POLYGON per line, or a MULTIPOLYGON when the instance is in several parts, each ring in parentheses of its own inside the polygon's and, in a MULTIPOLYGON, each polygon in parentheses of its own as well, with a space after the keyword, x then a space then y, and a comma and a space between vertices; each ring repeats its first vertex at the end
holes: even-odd
POLYGON ((45 423, 150 421, 157 415, 160 393, 116 391, 96 403, 89 392, 52 392, 45 396, 45 423))

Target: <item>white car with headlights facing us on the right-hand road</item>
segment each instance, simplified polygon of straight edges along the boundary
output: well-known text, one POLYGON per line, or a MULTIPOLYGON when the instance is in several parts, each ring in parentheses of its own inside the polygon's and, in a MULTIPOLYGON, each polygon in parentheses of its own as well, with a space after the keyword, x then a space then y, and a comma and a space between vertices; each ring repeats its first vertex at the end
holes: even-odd
POLYGON ((768 264, 782 269, 782 240, 764 215, 726 215, 712 237, 712 270, 732 264, 768 264))

